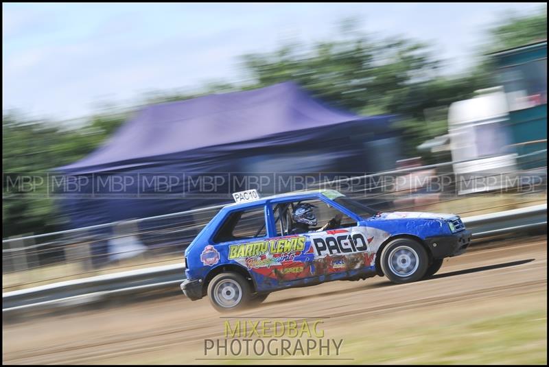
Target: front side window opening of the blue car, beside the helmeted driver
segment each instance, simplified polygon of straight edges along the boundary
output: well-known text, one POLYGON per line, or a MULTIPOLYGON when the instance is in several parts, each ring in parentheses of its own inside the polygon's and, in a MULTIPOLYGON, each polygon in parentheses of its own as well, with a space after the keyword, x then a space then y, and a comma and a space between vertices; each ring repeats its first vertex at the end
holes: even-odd
POLYGON ((273 211, 278 236, 356 226, 356 220, 319 199, 279 203, 273 206, 273 211), (302 204, 311 205, 316 224, 296 222, 293 213, 302 204))

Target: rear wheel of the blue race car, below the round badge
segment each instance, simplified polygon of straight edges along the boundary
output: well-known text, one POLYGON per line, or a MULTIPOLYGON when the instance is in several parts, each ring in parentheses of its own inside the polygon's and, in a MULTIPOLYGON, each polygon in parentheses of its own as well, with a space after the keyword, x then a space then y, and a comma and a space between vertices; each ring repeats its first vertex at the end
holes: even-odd
POLYGON ((208 285, 210 303, 220 312, 243 309, 249 305, 251 294, 248 281, 235 272, 218 274, 208 285))

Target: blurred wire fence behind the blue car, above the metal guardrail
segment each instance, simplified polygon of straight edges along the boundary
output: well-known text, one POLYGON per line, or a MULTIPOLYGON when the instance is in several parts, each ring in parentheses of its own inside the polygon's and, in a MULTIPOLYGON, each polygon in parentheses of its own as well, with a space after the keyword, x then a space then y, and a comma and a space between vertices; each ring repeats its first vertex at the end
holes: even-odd
MULTIPOLYGON (((546 154, 516 156, 508 165, 474 174, 457 174, 456 162, 448 162, 314 182, 305 189, 336 189, 378 211, 449 208, 473 215, 545 201, 546 154), (472 193, 461 195, 463 187, 472 193), (464 200, 468 204, 458 205, 464 200)), ((182 261, 183 250, 222 206, 5 239, 3 289, 182 261)))

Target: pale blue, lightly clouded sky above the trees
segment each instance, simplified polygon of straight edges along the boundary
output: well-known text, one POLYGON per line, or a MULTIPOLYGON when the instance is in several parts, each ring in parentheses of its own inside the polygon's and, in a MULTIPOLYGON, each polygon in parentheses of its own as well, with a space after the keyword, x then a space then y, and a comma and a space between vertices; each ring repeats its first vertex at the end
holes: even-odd
POLYGON ((353 16, 360 30, 434 45, 446 73, 465 71, 502 14, 539 3, 3 3, 2 108, 78 119, 144 93, 196 90, 246 77, 238 56, 290 38, 331 38, 353 16))

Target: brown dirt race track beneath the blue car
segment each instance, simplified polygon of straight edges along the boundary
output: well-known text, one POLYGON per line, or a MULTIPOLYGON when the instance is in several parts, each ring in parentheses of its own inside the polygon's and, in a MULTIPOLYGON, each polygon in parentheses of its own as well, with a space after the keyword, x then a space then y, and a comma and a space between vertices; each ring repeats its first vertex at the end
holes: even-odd
MULTIPOLYGON (((502 244, 481 245, 447 259, 439 274, 426 281, 392 285, 375 277, 288 289, 271 294, 256 309, 230 316, 323 318, 330 338, 342 335, 362 342, 364 327, 398 333, 399 322, 436 327, 443 320, 497 316, 533 304, 541 307, 547 295, 546 239, 502 244)), ((209 300, 191 302, 181 295, 3 324, 3 363, 211 363, 200 358, 205 356, 206 338, 222 338, 226 319, 220 316, 226 315, 215 313, 209 300)), ((372 340, 372 333, 368 335, 372 340)))

